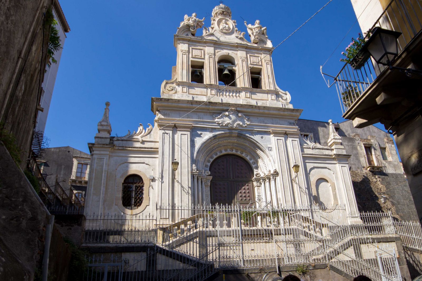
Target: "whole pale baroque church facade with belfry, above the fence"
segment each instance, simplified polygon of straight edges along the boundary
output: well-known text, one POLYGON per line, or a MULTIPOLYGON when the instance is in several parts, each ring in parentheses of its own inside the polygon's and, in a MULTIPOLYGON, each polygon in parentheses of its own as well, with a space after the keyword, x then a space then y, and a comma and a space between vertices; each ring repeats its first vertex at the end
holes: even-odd
POLYGON ((277 86, 266 28, 245 21, 247 40, 223 4, 212 11, 211 27, 203 20, 186 15, 176 32, 172 78, 151 102, 154 125, 113 137, 106 103, 89 144, 85 213, 319 204, 345 206, 349 219, 359 221, 350 155, 331 120, 326 146, 300 131, 302 110, 277 86))

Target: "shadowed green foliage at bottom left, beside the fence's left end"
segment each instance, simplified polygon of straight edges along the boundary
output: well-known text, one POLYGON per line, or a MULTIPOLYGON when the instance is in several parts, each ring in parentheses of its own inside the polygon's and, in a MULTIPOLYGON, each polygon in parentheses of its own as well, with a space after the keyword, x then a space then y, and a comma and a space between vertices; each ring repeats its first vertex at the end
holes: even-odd
POLYGON ((63 240, 68 244, 70 253, 72 254, 70 257, 68 280, 82 281, 84 272, 88 269, 88 261, 85 258, 87 252, 78 248, 68 237, 63 237, 63 240))

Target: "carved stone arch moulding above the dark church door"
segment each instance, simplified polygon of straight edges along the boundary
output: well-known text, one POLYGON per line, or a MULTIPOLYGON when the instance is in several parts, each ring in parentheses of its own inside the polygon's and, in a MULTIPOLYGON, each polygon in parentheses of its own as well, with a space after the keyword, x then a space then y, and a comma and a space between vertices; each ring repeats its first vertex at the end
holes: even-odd
POLYGON ((256 140, 238 132, 220 132, 208 137, 195 152, 197 169, 209 171, 211 162, 225 154, 246 159, 254 169, 254 174, 261 171, 274 172, 274 162, 265 148, 256 140))

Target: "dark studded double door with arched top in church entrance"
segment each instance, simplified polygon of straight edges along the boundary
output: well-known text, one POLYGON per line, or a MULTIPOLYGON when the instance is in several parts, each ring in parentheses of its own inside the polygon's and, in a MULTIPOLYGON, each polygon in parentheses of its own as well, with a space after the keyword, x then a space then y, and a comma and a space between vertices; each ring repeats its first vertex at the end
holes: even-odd
POLYGON ((216 158, 210 172, 211 204, 248 205, 255 200, 252 167, 240 156, 226 154, 216 158))

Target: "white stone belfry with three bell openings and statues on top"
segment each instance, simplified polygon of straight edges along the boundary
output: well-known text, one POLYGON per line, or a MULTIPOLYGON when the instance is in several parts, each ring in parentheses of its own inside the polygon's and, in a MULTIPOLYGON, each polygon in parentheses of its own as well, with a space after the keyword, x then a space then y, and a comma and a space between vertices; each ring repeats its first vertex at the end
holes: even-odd
POLYGON ((176 66, 161 85, 161 97, 292 108, 290 94, 274 78, 266 27, 245 21, 245 36, 224 4, 213 9, 210 27, 204 20, 193 13, 180 23, 176 66))

